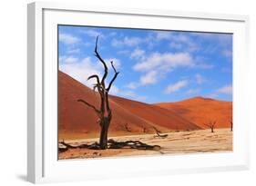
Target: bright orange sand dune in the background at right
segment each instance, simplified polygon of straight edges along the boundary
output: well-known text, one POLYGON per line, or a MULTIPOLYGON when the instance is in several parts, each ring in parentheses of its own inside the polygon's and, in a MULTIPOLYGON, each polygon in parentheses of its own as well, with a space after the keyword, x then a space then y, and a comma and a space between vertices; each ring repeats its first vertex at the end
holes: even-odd
POLYGON ((232 103, 210 98, 194 97, 176 103, 156 103, 162 108, 179 114, 203 129, 205 123, 216 121, 216 128, 229 128, 232 120, 232 103))

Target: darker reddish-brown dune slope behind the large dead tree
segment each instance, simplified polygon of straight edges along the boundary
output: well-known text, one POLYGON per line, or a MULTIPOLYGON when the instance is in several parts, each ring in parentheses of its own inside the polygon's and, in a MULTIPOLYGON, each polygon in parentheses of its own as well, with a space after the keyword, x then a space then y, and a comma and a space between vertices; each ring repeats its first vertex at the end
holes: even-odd
MULTIPOLYGON (((68 133, 84 133, 96 136, 99 132, 96 113, 77 99, 99 105, 96 92, 77 82, 66 73, 58 72, 58 129, 64 136, 68 133)), ((152 126, 161 132, 174 130, 196 130, 200 127, 184 119, 175 111, 148 103, 139 103, 117 96, 109 97, 113 119, 109 127, 110 135, 153 132, 152 126), (125 124, 128 124, 128 132, 125 124)))

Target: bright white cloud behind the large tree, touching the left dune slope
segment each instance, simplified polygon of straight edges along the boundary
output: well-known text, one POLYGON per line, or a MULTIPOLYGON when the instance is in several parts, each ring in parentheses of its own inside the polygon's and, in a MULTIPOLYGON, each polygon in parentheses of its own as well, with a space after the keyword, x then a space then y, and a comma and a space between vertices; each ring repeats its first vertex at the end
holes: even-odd
POLYGON ((75 64, 60 64, 59 68, 62 72, 67 73, 78 82, 84 83, 90 88, 93 87, 93 83, 96 83, 96 80, 87 81, 87 77, 92 74, 98 74, 99 78, 101 78, 101 69, 91 61, 90 57, 84 58, 75 64))

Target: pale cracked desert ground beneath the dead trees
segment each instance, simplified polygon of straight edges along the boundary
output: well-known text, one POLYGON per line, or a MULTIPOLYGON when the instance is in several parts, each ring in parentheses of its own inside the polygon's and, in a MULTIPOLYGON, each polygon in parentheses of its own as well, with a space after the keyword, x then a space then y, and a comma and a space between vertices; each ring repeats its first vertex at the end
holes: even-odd
MULTIPOLYGON (((138 156, 138 155, 162 155, 162 154, 184 154, 200 152, 230 152, 232 151, 232 132, 230 128, 215 129, 214 132, 196 130, 189 132, 169 132, 166 138, 156 137, 155 134, 127 135, 109 137, 117 142, 140 141, 149 145, 159 145, 159 151, 137 150, 137 149, 68 149, 67 152, 59 152, 58 159, 87 159, 102 157, 138 156)), ((97 142, 97 138, 67 140, 68 144, 90 144, 97 142)), ((61 146, 61 144, 59 144, 61 146)))

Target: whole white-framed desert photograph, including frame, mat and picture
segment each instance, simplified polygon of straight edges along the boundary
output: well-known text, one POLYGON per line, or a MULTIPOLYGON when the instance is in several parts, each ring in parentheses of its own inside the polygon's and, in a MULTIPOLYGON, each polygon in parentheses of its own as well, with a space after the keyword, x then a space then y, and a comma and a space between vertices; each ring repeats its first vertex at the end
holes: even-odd
POLYGON ((247 169, 247 26, 28 5, 28 181, 247 169))

